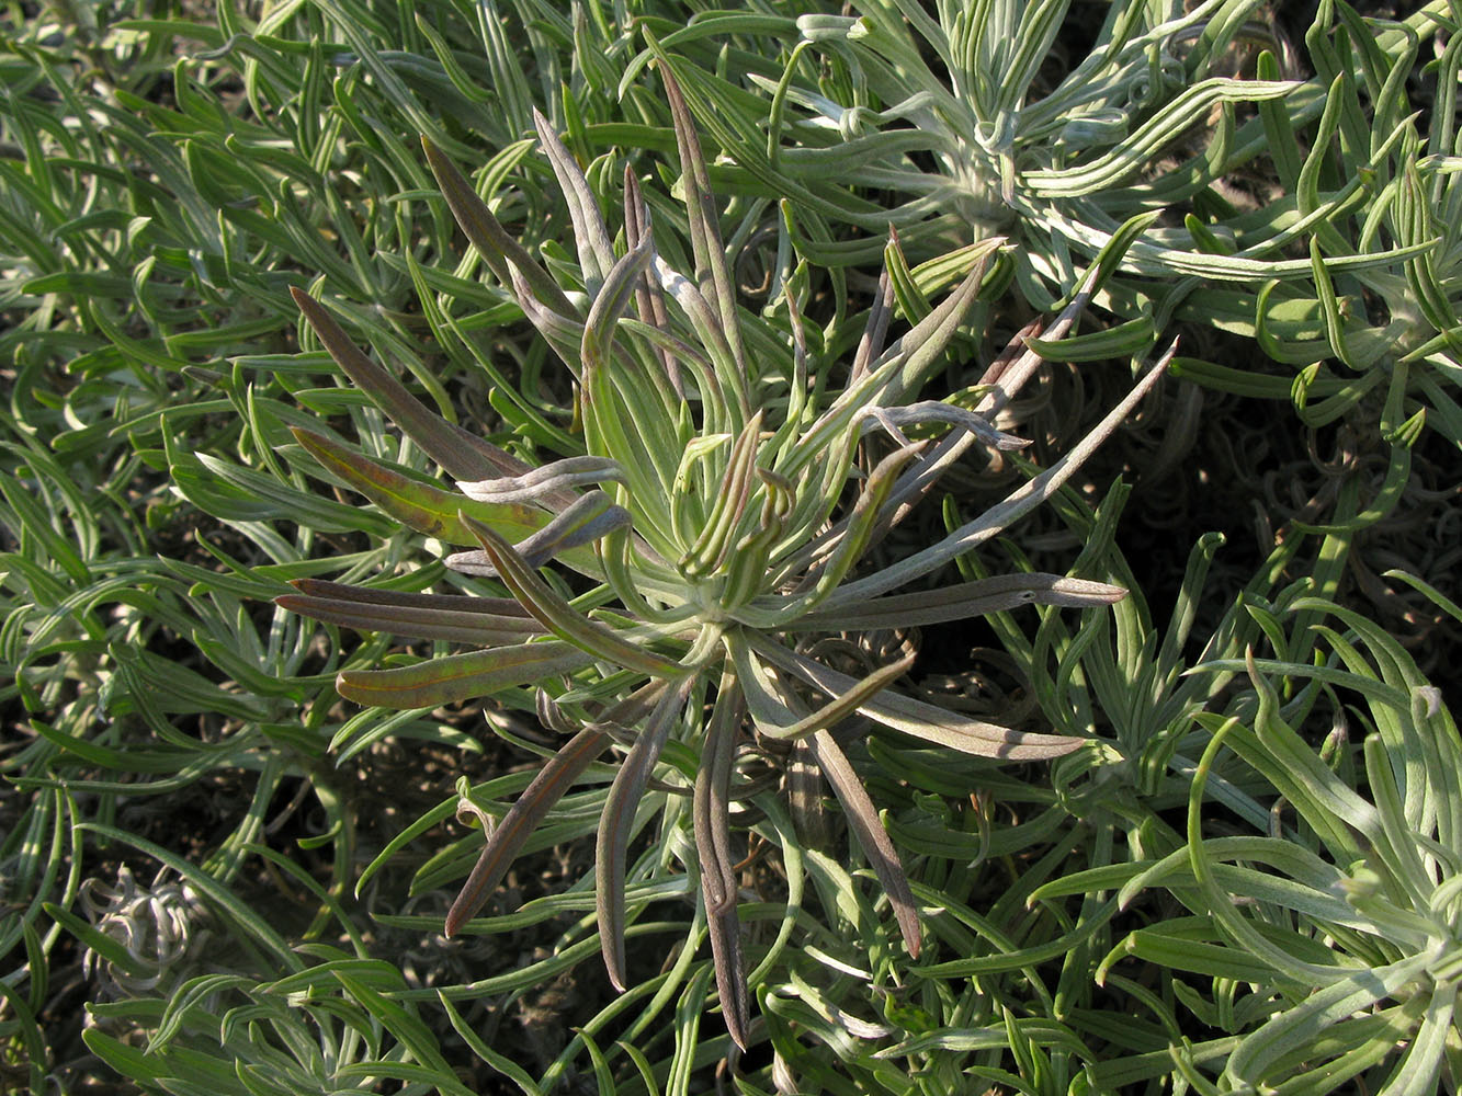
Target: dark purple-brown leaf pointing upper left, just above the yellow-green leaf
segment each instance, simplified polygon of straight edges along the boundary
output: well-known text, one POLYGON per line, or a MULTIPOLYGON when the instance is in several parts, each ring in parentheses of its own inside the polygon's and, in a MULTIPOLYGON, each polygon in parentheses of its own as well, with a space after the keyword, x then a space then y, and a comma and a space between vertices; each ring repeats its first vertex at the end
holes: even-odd
POLYGON ((455 422, 428 409, 421 400, 406 392, 405 386, 385 368, 373 362, 351 340, 335 317, 319 301, 303 289, 289 286, 289 295, 300 305, 304 319, 314 329, 320 343, 345 376, 367 393, 406 437, 415 441, 424 453, 446 469, 447 475, 461 479, 488 479, 499 475, 520 475, 528 465, 497 446, 484 441, 455 422))

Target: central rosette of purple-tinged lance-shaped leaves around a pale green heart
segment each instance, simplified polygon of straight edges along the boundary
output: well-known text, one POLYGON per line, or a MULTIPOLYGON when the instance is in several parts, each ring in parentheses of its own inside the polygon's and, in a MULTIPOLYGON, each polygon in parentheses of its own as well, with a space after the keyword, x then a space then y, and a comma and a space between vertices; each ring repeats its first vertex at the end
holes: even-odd
MULTIPOLYGON (((1004 501, 937 544, 870 568, 870 548, 971 447, 1025 444, 993 419, 1034 374, 1034 351, 1016 346, 1003 357, 999 384, 993 371, 991 383, 975 390, 974 406, 920 399, 1001 241, 969 248, 962 281, 892 342, 896 294, 886 272, 854 361, 839 370, 823 349, 836 340, 819 338, 823 333, 801 320, 797 286, 807 283, 804 269, 785 279, 784 327, 738 307, 696 130, 668 73, 665 89, 683 171, 689 270, 675 269, 656 248, 632 172, 616 247, 585 172, 542 115, 535 115, 538 137, 575 228, 579 282, 570 288, 516 244, 472 184, 424 142, 468 240, 572 371, 582 452, 531 466, 446 422, 364 355, 319 301, 295 291, 346 376, 458 490, 389 469, 320 434, 297 431, 301 444, 333 478, 393 517, 462 547, 447 566, 500 582, 507 596, 401 593, 308 579, 279 604, 357 630, 475 647, 411 666, 345 671, 338 690, 346 699, 406 709, 534 687, 542 722, 569 735, 490 827, 447 915, 449 935, 497 888, 535 827, 589 766, 610 751, 623 753, 598 831, 596 903, 605 964, 624 988, 626 853, 636 808, 667 744, 689 745, 699 756, 692 874, 699 874, 727 1026, 746 1046, 749 998, 730 824, 738 747, 747 738, 779 739, 820 769, 917 956, 918 913, 898 850, 835 728, 857 715, 925 742, 1007 761, 1060 757, 1083 739, 968 719, 901 691, 896 682, 912 653, 849 675, 846 666, 819 659, 814 642, 848 633, 906 636, 920 625, 1022 604, 1079 608, 1118 601, 1121 587, 1057 574, 898 590, 934 576, 1050 497, 1130 412, 1167 359, 1091 435, 1004 501), (836 390, 835 376, 845 377, 836 390), (566 582, 545 577, 550 564, 576 571, 577 587, 588 592, 566 596, 566 582)), ((1121 246, 1124 240, 1114 244, 1121 246)), ((896 240, 887 256, 890 269, 904 269, 896 240)), ((563 266, 556 263, 566 278, 563 266)), ((1110 267, 1096 263, 1048 336, 1072 327, 1110 267)), ((665 777, 677 779, 668 770, 665 777)))

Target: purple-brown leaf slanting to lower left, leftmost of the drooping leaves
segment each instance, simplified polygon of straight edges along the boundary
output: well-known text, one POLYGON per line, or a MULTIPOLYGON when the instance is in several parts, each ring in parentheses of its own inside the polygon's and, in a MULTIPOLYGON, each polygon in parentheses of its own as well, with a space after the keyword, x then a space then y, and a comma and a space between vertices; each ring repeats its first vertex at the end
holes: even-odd
POLYGON ((659 681, 637 688, 604 712, 599 722, 579 731, 557 754, 548 758, 534 782, 523 789, 523 794, 518 796, 518 801, 488 834, 482 855, 477 858, 456 902, 447 910, 443 928, 446 935, 456 935, 462 925, 482 907, 482 903, 501 884, 503 877, 523 848, 523 842, 538 829, 544 815, 564 796, 575 780, 583 775, 583 770, 610 748, 610 742, 614 739, 605 728, 636 723, 643 719, 645 713, 659 700, 664 688, 664 682, 659 681))

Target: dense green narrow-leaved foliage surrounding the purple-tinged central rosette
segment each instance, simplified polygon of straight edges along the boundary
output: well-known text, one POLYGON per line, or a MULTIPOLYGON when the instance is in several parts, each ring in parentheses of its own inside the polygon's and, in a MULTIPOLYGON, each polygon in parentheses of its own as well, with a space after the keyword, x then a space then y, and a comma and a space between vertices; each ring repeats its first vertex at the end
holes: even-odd
POLYGON ((9 4, 0 1089, 1456 1092, 1459 18, 9 4), (974 406, 1007 345, 1034 348, 997 419, 1032 446, 966 454, 870 567, 1051 466, 1180 339, 1050 504, 936 576, 1054 571, 1126 601, 829 640, 855 662, 918 650, 904 688, 952 713, 1089 739, 997 764, 845 728, 917 959, 836 801, 804 833, 776 794, 789 751, 738 756, 744 1055, 690 874, 694 741, 637 815, 627 992, 598 960, 608 760, 447 940, 482 846, 459 782, 501 818, 560 732, 519 688, 342 700, 341 671, 458 647, 273 605, 298 579, 493 592, 291 434, 323 424, 433 475, 291 288, 446 419, 531 463, 582 450, 569 374, 418 137, 582 283, 537 108, 613 231, 629 168, 678 260, 665 72, 740 308, 789 332, 795 301, 829 384, 886 253, 899 335, 971 246, 1007 241, 924 395, 974 406), (1041 338, 1088 276, 1079 329, 1041 338))

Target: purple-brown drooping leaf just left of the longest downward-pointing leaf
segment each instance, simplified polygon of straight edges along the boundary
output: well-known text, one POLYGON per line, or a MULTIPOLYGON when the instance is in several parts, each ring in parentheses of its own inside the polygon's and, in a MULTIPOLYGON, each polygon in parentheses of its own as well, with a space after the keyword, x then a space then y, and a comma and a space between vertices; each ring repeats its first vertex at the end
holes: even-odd
POLYGON ((614 775, 610 794, 599 815, 595 846, 594 903, 599 918, 599 948, 610 982, 624 992, 624 856, 635 829, 635 811, 645 795, 645 786, 655 770, 661 751, 675 720, 686 707, 686 697, 694 678, 686 678, 678 688, 667 690, 649 713, 645 728, 635 737, 635 745, 614 775))

